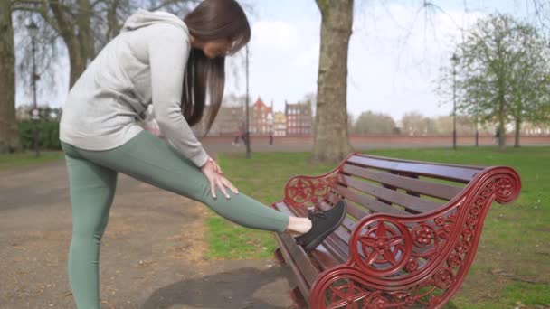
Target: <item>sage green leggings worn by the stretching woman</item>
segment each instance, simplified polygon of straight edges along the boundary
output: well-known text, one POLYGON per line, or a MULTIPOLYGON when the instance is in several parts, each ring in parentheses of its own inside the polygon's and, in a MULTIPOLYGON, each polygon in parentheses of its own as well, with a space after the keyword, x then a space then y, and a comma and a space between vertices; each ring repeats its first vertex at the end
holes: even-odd
POLYGON ((289 215, 230 189, 213 199, 200 169, 174 146, 144 130, 128 143, 104 151, 62 143, 69 173, 72 239, 69 281, 79 309, 100 308, 100 243, 109 220, 117 174, 125 173, 158 188, 200 201, 227 220, 251 229, 282 232, 289 215))

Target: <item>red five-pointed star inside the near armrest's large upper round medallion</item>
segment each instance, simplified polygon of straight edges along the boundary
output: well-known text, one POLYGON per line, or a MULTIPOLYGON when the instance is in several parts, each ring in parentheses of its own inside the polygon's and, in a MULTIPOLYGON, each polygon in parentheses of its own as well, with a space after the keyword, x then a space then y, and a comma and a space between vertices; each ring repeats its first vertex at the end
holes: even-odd
MULTIPOLYGON (((371 236, 362 236, 359 238, 359 241, 367 248, 371 248, 372 252, 369 254, 365 250, 365 256, 367 257, 367 264, 375 263, 378 258, 381 256, 384 257, 384 260, 378 262, 385 263, 388 262, 394 266, 397 264, 395 260, 394 251, 392 248, 397 248, 403 241, 403 236, 395 235, 394 229, 386 229, 384 221, 379 221, 375 229, 375 237, 371 236), (390 233, 392 236, 388 236, 390 233)), ((369 230, 365 235, 371 235, 373 229, 369 230)))

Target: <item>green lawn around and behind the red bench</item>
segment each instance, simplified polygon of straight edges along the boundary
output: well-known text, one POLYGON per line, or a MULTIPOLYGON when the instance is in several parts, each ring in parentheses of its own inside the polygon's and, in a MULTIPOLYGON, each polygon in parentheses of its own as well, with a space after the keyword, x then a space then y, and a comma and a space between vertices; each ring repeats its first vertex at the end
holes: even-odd
MULTIPOLYGON (((550 147, 392 149, 368 152, 433 162, 508 165, 522 179, 519 199, 494 203, 485 220, 476 259, 451 306, 512 308, 550 306, 550 147)), ((326 173, 336 165, 309 164, 306 153, 220 155, 223 171, 237 188, 269 205, 297 174, 326 173)), ((270 232, 242 228, 213 212, 207 219, 210 258, 272 257, 270 232)))

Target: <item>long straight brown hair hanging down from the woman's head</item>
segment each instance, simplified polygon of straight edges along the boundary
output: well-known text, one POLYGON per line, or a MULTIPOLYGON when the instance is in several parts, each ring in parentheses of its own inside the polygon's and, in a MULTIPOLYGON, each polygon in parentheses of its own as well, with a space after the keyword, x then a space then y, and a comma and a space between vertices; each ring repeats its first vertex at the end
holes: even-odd
MULTIPOLYGON (((235 0, 204 0, 185 16, 184 22, 189 33, 198 40, 230 39, 230 55, 238 52, 251 38, 246 14, 235 0)), ((209 59, 202 50, 192 48, 183 83, 181 107, 189 126, 194 126, 203 117, 206 97, 210 101, 206 135, 222 105, 225 57, 209 59)))

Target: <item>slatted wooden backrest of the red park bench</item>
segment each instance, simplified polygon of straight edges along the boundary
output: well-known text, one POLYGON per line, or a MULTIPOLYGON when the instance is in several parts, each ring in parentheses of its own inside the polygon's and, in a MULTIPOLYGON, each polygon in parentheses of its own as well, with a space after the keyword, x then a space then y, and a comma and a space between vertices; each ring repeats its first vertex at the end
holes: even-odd
MULTIPOLYGON (((354 154, 341 164, 337 182, 318 207, 327 209, 345 197, 348 214, 356 220, 375 212, 431 211, 450 201, 484 168, 354 154)), ((346 220, 344 225, 352 229, 354 222, 346 220)))

